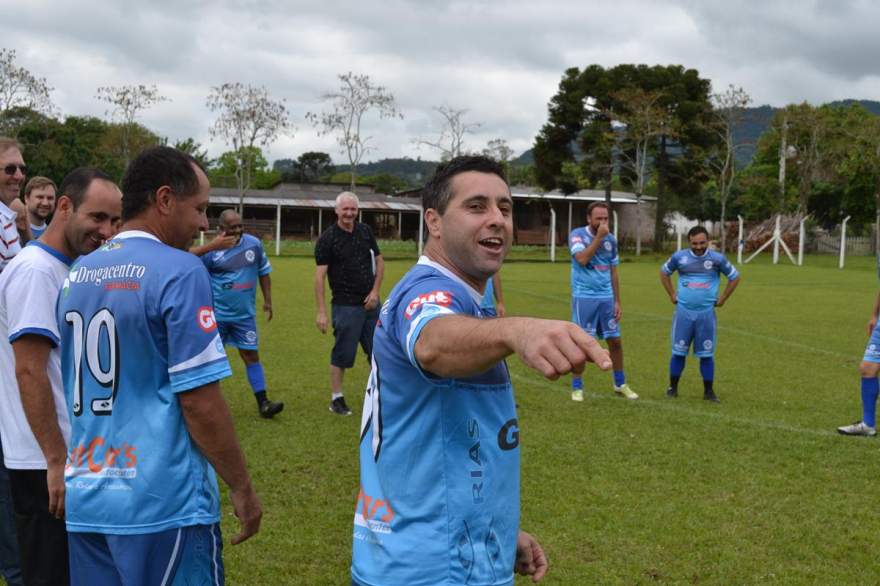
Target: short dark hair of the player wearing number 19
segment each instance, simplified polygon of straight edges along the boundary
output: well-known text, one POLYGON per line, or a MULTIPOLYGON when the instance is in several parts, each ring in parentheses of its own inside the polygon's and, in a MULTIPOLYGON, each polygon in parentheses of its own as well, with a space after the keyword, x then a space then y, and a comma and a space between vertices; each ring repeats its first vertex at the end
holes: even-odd
POLYGON ((129 163, 122 178, 122 220, 140 215, 164 185, 179 198, 195 195, 199 190, 199 178, 193 165, 204 171, 196 159, 171 147, 142 151, 129 163))

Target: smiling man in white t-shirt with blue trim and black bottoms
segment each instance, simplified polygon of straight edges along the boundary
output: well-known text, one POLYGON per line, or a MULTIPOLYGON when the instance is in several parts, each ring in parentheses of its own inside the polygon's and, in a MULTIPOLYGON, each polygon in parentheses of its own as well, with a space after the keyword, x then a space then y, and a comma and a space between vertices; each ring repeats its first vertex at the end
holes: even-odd
POLYGON ((122 194, 97 169, 64 178, 58 210, 0 274, 0 436, 25 584, 69 583, 64 465, 70 422, 55 304, 73 259, 113 236, 122 194))

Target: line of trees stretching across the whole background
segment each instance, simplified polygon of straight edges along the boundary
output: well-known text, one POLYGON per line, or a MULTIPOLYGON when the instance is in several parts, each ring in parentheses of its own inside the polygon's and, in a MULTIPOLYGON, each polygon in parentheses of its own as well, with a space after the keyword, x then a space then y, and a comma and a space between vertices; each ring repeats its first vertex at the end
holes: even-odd
MULTIPOLYGON (((293 124, 285 100, 263 86, 226 83, 210 88, 207 108, 215 115, 212 137, 228 150, 211 158, 193 138, 169 142, 139 122, 143 112, 168 98, 156 86, 107 86, 95 98, 107 106, 104 118, 62 117, 53 88, 16 64, 14 50, 0 48, 0 132, 26 148, 32 174, 60 178, 80 165, 97 165, 121 177, 133 153, 156 144, 196 157, 216 185, 235 187, 243 201, 251 188, 279 181, 368 181, 378 191, 413 187, 420 174, 379 172, 359 177, 372 149, 366 117, 403 117, 394 95, 368 75, 338 75, 339 86, 320 99, 324 109, 308 112, 322 135, 336 137, 347 159, 341 171, 327 153, 306 152, 275 161, 263 149, 293 124)), ((655 247, 666 234, 665 217, 679 211, 699 220, 727 221, 736 215, 765 219, 776 213, 809 215, 825 227, 852 216, 855 230, 880 218, 880 118, 858 103, 792 104, 778 110, 757 144, 736 129, 751 98, 740 87, 713 92, 711 81, 682 65, 590 65, 566 70, 548 105, 548 119, 535 138, 534 165, 514 165, 503 138, 482 150, 467 144, 479 121, 448 103, 434 106, 435 135, 413 139, 445 160, 482 152, 508 166, 511 184, 574 193, 600 188, 610 199, 624 189, 641 200, 657 200, 655 247), (738 153, 754 155, 747 164, 738 153)), ((641 206, 639 206, 641 207, 641 206)), ((722 230, 722 247, 725 231, 722 230)), ((641 249, 643 235, 636 234, 641 249)))

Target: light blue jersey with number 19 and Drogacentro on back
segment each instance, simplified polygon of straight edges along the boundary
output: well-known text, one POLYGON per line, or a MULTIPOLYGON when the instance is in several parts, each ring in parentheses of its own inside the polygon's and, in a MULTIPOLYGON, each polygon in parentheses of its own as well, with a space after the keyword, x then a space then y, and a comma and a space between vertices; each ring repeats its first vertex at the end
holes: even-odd
POLYGON ((58 326, 71 421, 67 530, 218 522, 217 479, 177 398, 231 374, 201 261, 123 232, 71 268, 58 326))

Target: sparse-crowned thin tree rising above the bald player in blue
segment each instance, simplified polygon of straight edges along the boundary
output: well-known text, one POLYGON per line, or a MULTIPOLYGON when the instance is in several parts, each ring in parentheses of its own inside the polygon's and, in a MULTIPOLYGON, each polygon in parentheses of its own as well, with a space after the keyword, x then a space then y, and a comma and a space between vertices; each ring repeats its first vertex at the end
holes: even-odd
POLYGON ((265 147, 279 136, 292 132, 284 100, 274 100, 265 87, 239 82, 211 88, 208 109, 217 113, 211 136, 232 147, 235 157, 235 181, 238 188, 238 212, 244 211, 244 194, 253 179, 253 157, 257 146, 265 147))

